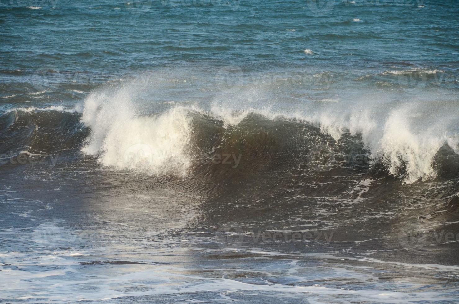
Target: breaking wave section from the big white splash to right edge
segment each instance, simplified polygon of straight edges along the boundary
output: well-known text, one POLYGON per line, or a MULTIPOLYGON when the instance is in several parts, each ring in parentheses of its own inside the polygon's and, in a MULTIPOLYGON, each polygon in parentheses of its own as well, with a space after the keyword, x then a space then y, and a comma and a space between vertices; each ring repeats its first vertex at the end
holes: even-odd
POLYGON ((206 157, 234 154, 245 164, 255 151, 270 151, 264 161, 319 171, 359 163, 413 183, 434 180, 457 161, 455 101, 374 94, 287 107, 251 87, 207 105, 151 105, 142 99, 148 82, 135 83, 102 89, 84 103, 91 133, 82 151, 104 166, 185 177, 206 157))

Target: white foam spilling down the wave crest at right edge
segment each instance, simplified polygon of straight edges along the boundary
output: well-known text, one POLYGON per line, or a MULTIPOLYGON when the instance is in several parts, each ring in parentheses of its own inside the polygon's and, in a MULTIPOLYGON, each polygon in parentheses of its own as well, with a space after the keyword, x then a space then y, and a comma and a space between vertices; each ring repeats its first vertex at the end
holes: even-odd
MULTIPOLYGON (((427 108, 431 107, 435 105, 427 108)), ((367 109, 340 115, 329 111, 308 119, 319 122, 321 130, 336 140, 346 130, 351 134, 360 134, 372 158, 382 160, 394 176, 406 167, 404 180, 411 183, 420 178, 436 177, 432 165, 437 151, 444 144, 453 149, 459 144, 457 134, 450 133, 457 127, 453 116, 443 117, 442 120, 428 119, 426 112, 432 110, 425 109, 422 113, 419 105, 412 103, 387 113, 367 109)))

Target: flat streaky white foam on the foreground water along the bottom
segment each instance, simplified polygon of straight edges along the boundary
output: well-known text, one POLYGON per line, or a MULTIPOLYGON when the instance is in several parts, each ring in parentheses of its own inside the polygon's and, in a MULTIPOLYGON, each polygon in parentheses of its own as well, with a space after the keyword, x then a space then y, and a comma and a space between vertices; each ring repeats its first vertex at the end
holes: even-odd
MULTIPOLYGON (((388 290, 385 280, 377 280, 378 273, 385 271, 415 271, 429 277, 435 276, 440 271, 448 271, 450 275, 457 272, 457 266, 438 264, 407 264, 377 260, 368 257, 338 256, 326 253, 290 254, 263 249, 237 249, 225 248, 220 251, 207 248, 194 248, 192 251, 201 254, 215 254, 225 256, 225 264, 218 261, 204 260, 202 265, 194 265, 190 249, 186 250, 177 246, 171 240, 158 240, 155 248, 146 247, 145 244, 136 244, 126 248, 116 247, 109 243, 80 249, 55 249, 68 246, 79 240, 78 233, 64 229, 53 223, 45 223, 34 229, 33 233, 26 234, 23 229, 6 230, 6 236, 17 238, 23 243, 27 240, 36 243, 34 250, 12 251, 0 254, 2 271, 0 281, 2 290, 6 290, 6 298, 12 298, 9 302, 17 302, 14 299, 26 299, 29 302, 56 301, 107 301, 117 299, 117 302, 129 299, 127 297, 156 296, 166 298, 174 295, 174 299, 180 299, 180 303, 199 303, 198 299, 206 298, 208 294, 215 295, 214 302, 222 302, 223 299, 234 299, 235 296, 244 296, 245 292, 250 295, 263 297, 267 293, 274 293, 276 297, 285 299, 286 302, 300 303, 308 298, 311 303, 345 303, 370 301, 376 303, 401 303, 419 302, 429 298, 435 302, 451 300, 448 296, 450 290, 429 290, 425 282, 405 282, 395 280, 394 284, 403 285, 402 290, 388 290), (174 246, 172 249, 171 247, 174 246), (146 247, 146 248, 144 248, 146 247), (124 249, 124 251, 122 251, 124 249), (142 256, 142 267, 135 265, 112 265, 109 267, 110 276, 94 276, 94 271, 104 271, 103 265, 81 265, 91 263, 94 257, 99 256, 101 250, 106 255, 130 261, 132 255, 142 256), (121 250, 121 252, 120 252, 121 250), (131 251, 127 251, 131 250, 131 251), (152 261, 171 260, 177 253, 185 263, 176 265, 157 265, 152 261), (231 254, 239 253, 241 256, 252 254, 255 258, 241 264, 241 258, 231 254), (172 258, 171 258, 172 257, 172 258), (278 262, 264 263, 270 257, 280 257, 278 262), (306 259, 306 260, 305 260, 306 259), (261 261, 261 262, 260 262, 261 261), (311 264, 312 262, 312 264, 311 264), (352 262, 348 263, 348 262, 352 262), (6 265, 5 265, 6 264, 6 265), (183 265, 185 264, 185 266, 183 265), (231 267, 238 264, 240 267, 231 267), (11 266, 13 265, 13 266, 11 266), (39 265, 42 269, 36 271, 39 265), (193 267, 186 267, 193 265, 193 267), (317 267, 311 267, 316 265, 317 267), (89 268, 91 267, 91 268, 89 268), (91 271, 88 271, 90 269, 91 271), (209 271, 212 270, 212 271, 209 271), (243 274, 239 276, 238 274, 243 274), (237 276, 236 276, 237 275, 237 276), (276 277, 276 282, 256 278, 276 277), (375 280, 376 277, 376 280, 375 280), (56 279, 57 278, 57 279, 56 279), (56 281, 57 280, 57 281, 56 281), (327 286, 327 282, 342 283, 343 280, 361 282, 361 288, 353 288, 349 284, 341 284, 343 287, 327 286), (11 282, 15 284, 11 285, 11 282), (171 284, 174 282, 174 284, 171 284), (298 284, 297 282, 301 282, 298 284), (403 284, 401 284, 403 282, 403 284), (139 287, 126 288, 126 285, 137 284, 139 287), (344 288, 345 287, 345 288, 344 288), (406 292, 406 290, 410 292, 406 292), (14 298, 13 298, 14 297, 14 298), (344 301, 336 300, 344 298, 344 301), (185 300, 184 300, 185 299, 185 300), (221 300, 219 300, 221 299, 221 300)), ((192 242, 192 241, 191 241, 192 242)), ((114 243, 114 242, 113 242, 114 243)), ((103 260, 101 260, 103 261, 103 260)), ((116 261, 116 260, 113 260, 116 261)), ((272 280, 271 280, 272 281, 272 280)), ((452 289, 451 289, 452 290, 452 289)), ((208 297, 207 297, 208 298, 208 297)), ((110 302, 110 301, 109 301, 110 302)), ((177 301, 176 301, 177 302, 177 301)), ((228 302, 228 301, 223 301, 228 302)))

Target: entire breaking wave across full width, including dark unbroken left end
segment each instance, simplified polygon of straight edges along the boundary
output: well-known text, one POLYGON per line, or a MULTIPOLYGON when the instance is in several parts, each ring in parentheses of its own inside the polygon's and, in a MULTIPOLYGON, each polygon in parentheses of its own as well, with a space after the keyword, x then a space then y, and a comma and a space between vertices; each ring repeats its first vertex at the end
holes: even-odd
POLYGON ((252 83, 210 101, 153 101, 176 82, 167 76, 102 87, 76 107, 10 108, 1 117, 2 152, 81 151, 102 166, 180 178, 276 164, 307 175, 365 167, 413 183, 454 177, 458 168, 454 99, 358 91, 280 102, 272 87, 252 83), (233 167, 214 166, 216 157, 233 167))

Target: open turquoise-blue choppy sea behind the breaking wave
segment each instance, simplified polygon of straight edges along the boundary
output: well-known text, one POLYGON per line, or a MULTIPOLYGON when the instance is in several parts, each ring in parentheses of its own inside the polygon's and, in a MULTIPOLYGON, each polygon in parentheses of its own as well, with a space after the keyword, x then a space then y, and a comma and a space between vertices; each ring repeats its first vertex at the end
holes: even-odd
MULTIPOLYGON (((21 93, 46 68, 87 91, 106 78, 190 66, 209 81, 224 66, 329 71, 350 82, 344 88, 367 74, 438 69, 446 74, 440 85, 457 88, 455 1, 128 3, 2 1, 2 94, 21 93)), ((371 80, 365 84, 379 79, 371 80)))

